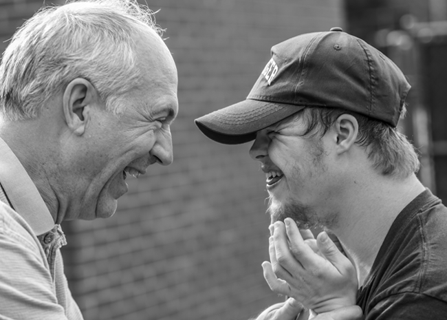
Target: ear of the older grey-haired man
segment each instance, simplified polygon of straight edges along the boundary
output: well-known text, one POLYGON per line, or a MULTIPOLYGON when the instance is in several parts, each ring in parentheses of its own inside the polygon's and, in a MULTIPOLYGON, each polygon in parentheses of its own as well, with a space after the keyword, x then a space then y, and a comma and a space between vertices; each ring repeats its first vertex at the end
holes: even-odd
POLYGON ((91 121, 92 107, 100 103, 95 87, 85 78, 72 80, 63 94, 63 114, 67 127, 82 136, 91 121))

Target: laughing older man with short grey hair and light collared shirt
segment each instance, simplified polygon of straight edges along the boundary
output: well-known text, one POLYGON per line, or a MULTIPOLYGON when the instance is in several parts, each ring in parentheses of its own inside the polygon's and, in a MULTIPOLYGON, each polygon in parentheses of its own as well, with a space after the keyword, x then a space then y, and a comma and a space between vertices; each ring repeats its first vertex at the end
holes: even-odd
POLYGON ((177 70, 135 1, 45 8, 0 67, 0 318, 83 319, 63 220, 109 217, 127 174, 171 164, 177 70))

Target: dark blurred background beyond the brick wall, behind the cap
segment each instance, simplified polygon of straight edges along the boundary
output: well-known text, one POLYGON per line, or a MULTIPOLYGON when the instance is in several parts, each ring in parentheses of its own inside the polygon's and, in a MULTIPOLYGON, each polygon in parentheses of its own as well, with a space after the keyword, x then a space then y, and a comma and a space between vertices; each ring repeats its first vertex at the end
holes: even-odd
MULTIPOLYGON (((438 47, 439 44, 446 43, 447 37, 445 34, 436 36, 435 30, 433 39, 418 39, 414 36, 415 33, 405 30, 402 17, 411 16, 419 23, 445 22, 447 1, 346 0, 345 4, 349 32, 366 39, 387 54, 408 78, 412 88, 406 97, 407 115, 400 120, 399 127, 419 153, 421 162, 417 173, 419 180, 446 202, 447 180, 444 179, 443 173, 447 151, 438 149, 440 138, 435 134, 445 127, 444 122, 437 122, 444 120, 441 111, 444 108, 444 98, 437 100, 434 97, 444 97, 444 90, 439 89, 444 85, 442 74, 446 74, 447 71, 444 68, 444 59, 441 58, 445 52, 440 53, 437 50, 441 49, 438 47), (437 52, 435 56, 431 56, 432 49, 437 52), (431 65, 436 67, 432 69, 431 65)), ((407 28, 409 26, 407 23, 407 28)))

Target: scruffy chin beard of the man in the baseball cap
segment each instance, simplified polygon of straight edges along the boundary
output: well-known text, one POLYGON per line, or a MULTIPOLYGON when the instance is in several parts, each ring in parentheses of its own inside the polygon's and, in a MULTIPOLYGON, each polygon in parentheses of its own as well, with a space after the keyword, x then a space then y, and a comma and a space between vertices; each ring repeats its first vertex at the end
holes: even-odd
POLYGON ((270 214, 272 223, 276 221, 284 221, 286 217, 292 218, 298 228, 308 229, 320 226, 318 223, 318 215, 316 211, 296 200, 276 200, 270 196, 267 212, 270 214))

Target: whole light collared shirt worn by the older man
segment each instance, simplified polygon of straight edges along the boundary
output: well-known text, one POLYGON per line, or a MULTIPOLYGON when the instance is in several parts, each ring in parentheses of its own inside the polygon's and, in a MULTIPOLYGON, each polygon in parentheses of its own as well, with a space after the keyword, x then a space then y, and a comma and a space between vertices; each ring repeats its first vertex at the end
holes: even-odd
POLYGON ((0 320, 82 320, 64 275, 61 226, 0 138, 0 320))

